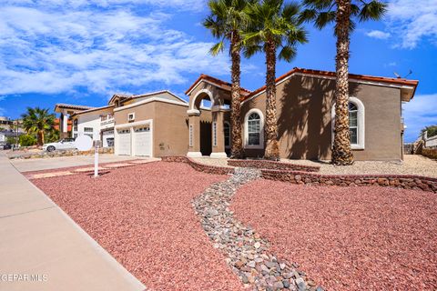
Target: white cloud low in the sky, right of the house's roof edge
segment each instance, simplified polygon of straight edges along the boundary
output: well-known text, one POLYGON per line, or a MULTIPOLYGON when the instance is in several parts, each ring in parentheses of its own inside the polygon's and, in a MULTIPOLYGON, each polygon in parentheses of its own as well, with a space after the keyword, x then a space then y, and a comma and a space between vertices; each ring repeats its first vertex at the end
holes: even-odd
POLYGON ((405 119, 405 141, 417 139, 421 129, 427 125, 437 125, 437 94, 415 95, 412 101, 402 105, 405 119))

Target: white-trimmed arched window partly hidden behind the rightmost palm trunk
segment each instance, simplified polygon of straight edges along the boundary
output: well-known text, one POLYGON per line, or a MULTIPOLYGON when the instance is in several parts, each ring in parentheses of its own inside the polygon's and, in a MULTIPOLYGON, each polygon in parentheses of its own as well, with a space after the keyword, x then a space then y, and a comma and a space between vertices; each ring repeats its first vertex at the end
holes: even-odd
MULTIPOLYGON (((349 98, 349 132, 351 135, 351 148, 364 149, 364 105, 356 97, 349 98)), ((332 106, 332 142, 335 128, 335 105, 332 106)))

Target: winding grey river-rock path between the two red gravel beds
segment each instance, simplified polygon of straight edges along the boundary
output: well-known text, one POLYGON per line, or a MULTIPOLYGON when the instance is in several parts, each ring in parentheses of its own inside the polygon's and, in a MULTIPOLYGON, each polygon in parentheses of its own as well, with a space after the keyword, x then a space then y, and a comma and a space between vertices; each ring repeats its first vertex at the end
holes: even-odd
POLYGON ((196 197, 193 206, 203 229, 245 286, 254 290, 323 291, 298 270, 297 264, 280 261, 270 253, 269 242, 229 210, 237 188, 259 176, 259 170, 238 167, 228 180, 209 186, 196 197))

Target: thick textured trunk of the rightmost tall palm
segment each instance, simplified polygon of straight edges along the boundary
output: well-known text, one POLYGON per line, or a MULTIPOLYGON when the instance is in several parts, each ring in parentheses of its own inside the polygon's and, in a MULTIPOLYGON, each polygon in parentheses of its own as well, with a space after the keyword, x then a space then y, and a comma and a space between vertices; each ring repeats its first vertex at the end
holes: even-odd
POLYGON ((337 0, 337 56, 335 84, 335 128, 331 162, 334 165, 353 164, 349 132, 349 45, 351 0, 337 0))

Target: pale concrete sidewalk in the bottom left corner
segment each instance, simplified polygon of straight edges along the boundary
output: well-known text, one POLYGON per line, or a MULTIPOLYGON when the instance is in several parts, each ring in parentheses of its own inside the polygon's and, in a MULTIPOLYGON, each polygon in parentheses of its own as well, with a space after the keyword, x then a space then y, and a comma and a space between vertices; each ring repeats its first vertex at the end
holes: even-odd
POLYGON ((146 289, 5 156, 0 189, 0 290, 146 289))

